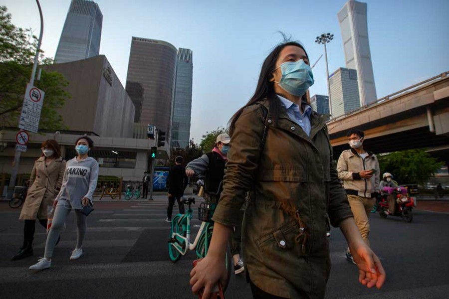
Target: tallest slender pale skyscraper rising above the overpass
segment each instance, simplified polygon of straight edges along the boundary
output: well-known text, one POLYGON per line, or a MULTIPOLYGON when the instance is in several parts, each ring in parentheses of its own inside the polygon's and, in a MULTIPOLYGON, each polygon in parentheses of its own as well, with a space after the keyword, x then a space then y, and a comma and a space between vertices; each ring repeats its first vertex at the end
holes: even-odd
POLYGON ((367 5, 349 0, 337 16, 343 38, 346 67, 357 70, 360 105, 369 105, 377 101, 377 94, 368 40, 367 5))

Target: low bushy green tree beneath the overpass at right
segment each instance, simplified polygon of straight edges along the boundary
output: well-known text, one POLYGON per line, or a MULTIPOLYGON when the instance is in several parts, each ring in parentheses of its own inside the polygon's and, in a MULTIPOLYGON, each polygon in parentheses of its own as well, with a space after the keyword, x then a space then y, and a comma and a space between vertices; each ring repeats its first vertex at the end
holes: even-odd
POLYGON ((421 185, 444 165, 423 149, 396 151, 380 156, 379 164, 382 173, 390 172, 400 184, 421 185))

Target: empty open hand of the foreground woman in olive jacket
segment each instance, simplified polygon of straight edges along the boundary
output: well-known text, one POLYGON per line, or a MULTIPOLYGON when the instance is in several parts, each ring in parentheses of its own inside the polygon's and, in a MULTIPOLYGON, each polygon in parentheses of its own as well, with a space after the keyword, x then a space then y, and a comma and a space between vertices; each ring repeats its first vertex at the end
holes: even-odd
POLYGON ((368 288, 376 286, 380 289, 385 283, 386 274, 376 254, 363 241, 350 246, 349 249, 359 267, 359 282, 368 288))

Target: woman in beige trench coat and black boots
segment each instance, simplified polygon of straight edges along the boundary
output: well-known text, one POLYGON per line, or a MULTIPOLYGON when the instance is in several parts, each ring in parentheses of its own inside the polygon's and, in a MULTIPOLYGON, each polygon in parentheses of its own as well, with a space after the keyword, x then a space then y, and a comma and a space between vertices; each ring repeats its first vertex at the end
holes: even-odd
POLYGON ((53 204, 58 194, 66 161, 61 157, 61 149, 55 140, 42 143, 42 155, 34 162, 29 178, 29 189, 25 203, 20 212, 20 220, 25 220, 23 227, 23 246, 12 260, 19 260, 33 255, 33 238, 36 219, 47 228, 47 207, 53 204))

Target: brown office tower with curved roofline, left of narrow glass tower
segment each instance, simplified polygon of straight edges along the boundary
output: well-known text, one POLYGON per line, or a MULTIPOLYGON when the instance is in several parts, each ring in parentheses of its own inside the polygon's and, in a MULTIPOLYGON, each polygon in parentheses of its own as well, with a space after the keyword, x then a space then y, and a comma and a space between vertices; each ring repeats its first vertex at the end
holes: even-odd
POLYGON ((134 37, 129 53, 126 91, 136 106, 134 121, 155 125, 170 140, 178 50, 163 41, 134 37))

